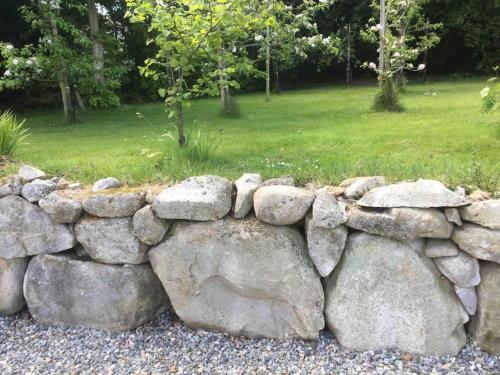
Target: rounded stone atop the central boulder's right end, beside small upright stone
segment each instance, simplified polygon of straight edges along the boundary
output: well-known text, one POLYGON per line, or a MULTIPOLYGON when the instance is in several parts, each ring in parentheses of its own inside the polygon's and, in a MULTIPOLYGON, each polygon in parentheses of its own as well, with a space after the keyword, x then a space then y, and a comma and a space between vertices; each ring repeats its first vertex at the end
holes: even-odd
POLYGON ((314 193, 293 186, 263 186, 253 196, 255 215, 265 223, 295 224, 307 214, 314 193))

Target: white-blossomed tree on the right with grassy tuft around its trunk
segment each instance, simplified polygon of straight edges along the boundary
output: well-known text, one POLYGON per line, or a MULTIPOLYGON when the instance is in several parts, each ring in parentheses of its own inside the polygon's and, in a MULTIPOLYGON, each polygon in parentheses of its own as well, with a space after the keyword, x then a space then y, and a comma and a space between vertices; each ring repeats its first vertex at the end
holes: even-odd
POLYGON ((439 42, 435 30, 440 25, 430 25, 422 14, 423 0, 375 0, 372 7, 379 13, 379 22, 370 20, 363 37, 378 42, 378 65, 370 62, 365 66, 377 73, 379 93, 375 109, 400 111, 394 80, 404 71, 422 71, 424 64, 415 66, 420 54, 439 42))

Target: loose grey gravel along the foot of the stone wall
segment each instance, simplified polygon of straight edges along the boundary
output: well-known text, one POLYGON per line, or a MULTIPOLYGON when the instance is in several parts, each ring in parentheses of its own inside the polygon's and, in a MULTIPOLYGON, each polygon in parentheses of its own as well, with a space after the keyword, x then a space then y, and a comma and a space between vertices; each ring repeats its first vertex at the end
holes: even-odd
POLYGON ((0 317, 0 374, 500 374, 500 356, 471 340, 457 357, 356 353, 318 341, 250 340, 190 329, 166 312, 135 331, 47 327, 0 317))

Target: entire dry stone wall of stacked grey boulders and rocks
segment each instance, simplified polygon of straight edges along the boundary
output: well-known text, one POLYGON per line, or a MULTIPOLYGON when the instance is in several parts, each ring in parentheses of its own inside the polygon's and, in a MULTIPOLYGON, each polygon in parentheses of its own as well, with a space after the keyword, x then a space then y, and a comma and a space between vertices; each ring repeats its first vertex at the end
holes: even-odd
POLYGON ((438 181, 191 177, 85 188, 24 165, 0 181, 0 313, 127 330, 191 327, 353 350, 500 353, 500 201, 438 181))

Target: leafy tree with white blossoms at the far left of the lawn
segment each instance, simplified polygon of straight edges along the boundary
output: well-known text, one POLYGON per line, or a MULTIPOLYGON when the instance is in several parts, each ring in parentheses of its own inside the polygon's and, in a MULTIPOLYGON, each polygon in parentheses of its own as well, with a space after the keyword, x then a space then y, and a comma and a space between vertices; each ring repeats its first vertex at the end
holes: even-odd
POLYGON ((75 120, 73 97, 82 109, 82 96, 91 106, 119 103, 114 90, 120 86, 123 66, 110 64, 108 70, 99 72, 103 79, 96 80, 92 42, 80 26, 87 15, 86 6, 78 1, 33 0, 20 11, 40 37, 35 45, 20 48, 1 44, 5 71, 0 90, 26 87, 36 81, 57 82, 68 122, 75 120))

